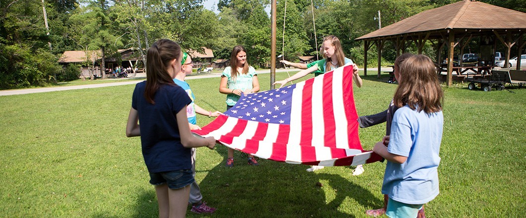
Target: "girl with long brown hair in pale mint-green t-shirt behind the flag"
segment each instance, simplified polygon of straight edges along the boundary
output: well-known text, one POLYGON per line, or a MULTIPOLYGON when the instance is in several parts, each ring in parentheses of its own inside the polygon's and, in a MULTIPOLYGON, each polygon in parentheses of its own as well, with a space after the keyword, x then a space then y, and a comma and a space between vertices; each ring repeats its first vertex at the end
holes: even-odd
MULTIPOLYGON (((219 92, 227 95, 227 110, 236 105, 241 93, 250 94, 259 91, 259 81, 254 67, 248 65, 247 50, 237 45, 232 49, 230 66, 223 70, 219 92)), ((227 167, 234 167, 234 149, 228 148, 227 167)), ((254 155, 247 154, 248 164, 259 165, 254 155)))

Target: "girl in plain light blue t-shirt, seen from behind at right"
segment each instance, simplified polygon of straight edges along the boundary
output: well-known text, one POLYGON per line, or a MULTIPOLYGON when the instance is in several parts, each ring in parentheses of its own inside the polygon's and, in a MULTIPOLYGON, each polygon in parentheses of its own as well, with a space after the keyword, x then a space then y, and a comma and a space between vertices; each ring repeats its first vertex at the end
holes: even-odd
POLYGON ((433 61, 424 55, 404 60, 395 71, 399 85, 390 136, 373 151, 388 160, 382 194, 388 194, 386 215, 417 217, 423 204, 439 193, 438 165, 444 117, 443 91, 433 61), (398 74, 398 75, 397 75, 398 74))

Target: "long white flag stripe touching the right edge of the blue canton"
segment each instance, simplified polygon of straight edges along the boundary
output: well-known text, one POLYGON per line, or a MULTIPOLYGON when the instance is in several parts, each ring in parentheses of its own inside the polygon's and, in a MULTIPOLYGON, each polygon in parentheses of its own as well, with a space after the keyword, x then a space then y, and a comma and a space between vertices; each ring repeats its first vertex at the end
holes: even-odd
MULTIPOLYGON (((292 103, 290 106, 290 131, 289 144, 299 144, 301 139, 301 103, 303 101, 303 87, 305 81, 296 84, 294 92, 292 92, 292 103)), ((292 91, 290 89, 287 89, 292 91)))

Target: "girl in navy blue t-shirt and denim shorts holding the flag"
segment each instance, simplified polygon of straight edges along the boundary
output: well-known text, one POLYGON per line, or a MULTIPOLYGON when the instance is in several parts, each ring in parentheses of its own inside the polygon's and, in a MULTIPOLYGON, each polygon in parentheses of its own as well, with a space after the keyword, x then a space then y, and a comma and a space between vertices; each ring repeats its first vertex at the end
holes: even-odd
POLYGON ((146 81, 136 85, 126 126, 126 136, 140 136, 143 157, 155 185, 159 217, 184 217, 194 182, 191 148, 213 149, 212 137, 190 133, 186 107, 191 102, 174 78, 181 70, 181 48, 168 39, 156 41, 146 56, 146 81), (140 122, 140 125, 139 125, 140 122))

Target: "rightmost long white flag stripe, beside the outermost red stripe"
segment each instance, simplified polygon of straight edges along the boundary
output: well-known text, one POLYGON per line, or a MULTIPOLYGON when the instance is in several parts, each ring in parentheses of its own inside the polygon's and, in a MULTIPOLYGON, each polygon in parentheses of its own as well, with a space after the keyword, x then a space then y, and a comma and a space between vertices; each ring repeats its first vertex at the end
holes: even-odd
MULTIPOLYGON (((332 72, 332 106, 335 119, 336 148, 349 148, 347 116, 343 107, 343 67, 332 72)), ((351 84, 352 86, 352 84, 351 84)), ((347 90, 345 90, 347 91, 347 90)))

